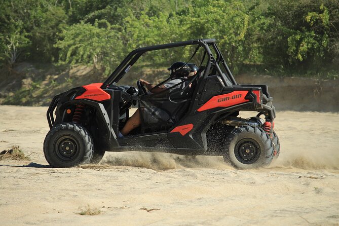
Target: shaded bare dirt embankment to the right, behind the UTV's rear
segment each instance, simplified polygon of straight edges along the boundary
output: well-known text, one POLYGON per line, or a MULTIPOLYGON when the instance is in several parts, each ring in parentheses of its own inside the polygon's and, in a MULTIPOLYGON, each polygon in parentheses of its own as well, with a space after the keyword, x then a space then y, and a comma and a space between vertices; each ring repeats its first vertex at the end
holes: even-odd
POLYGON ((295 77, 236 76, 241 84, 266 84, 278 110, 339 111, 339 81, 295 77))

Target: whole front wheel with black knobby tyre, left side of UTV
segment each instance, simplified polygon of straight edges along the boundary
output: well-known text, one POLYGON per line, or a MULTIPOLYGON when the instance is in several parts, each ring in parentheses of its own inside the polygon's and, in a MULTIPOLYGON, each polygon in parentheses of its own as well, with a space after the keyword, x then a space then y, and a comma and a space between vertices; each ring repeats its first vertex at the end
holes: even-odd
POLYGON ((53 127, 44 141, 44 154, 52 167, 73 167, 90 163, 93 158, 93 139, 83 126, 62 123, 53 127))

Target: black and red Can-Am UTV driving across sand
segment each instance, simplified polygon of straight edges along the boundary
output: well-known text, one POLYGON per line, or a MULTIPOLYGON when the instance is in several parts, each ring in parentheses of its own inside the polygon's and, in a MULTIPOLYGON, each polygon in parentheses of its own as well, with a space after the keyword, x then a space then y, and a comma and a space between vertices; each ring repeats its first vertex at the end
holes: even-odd
POLYGON ((53 98, 44 154, 52 167, 98 163, 105 152, 131 150, 222 156, 239 169, 268 166, 280 150, 272 100, 266 85, 237 84, 214 39, 138 48, 103 83, 53 98), (190 85, 180 92, 149 94, 139 81, 137 88, 118 85, 144 53, 187 46, 197 47, 191 59, 200 48, 203 54, 198 72, 186 79, 190 85), (169 120, 154 123, 141 116, 139 128, 119 137, 132 106, 154 109, 164 104, 175 106, 169 120), (256 111, 256 116, 243 119, 239 111, 256 111))

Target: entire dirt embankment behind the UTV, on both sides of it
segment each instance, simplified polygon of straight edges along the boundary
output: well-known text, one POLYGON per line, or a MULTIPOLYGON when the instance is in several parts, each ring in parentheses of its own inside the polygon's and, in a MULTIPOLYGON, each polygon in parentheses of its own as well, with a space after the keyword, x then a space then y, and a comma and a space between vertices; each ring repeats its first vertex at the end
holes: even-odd
MULTIPOLYGON (((133 68, 135 69, 135 68, 133 68)), ((167 70, 131 70, 120 83, 133 85, 138 78, 162 81, 167 70), (156 78, 156 79, 155 79, 156 78)), ((54 95, 72 87, 103 82, 108 75, 88 66, 34 66, 18 64, 9 75, 0 72, 0 104, 47 106, 54 95)), ((265 84, 278 110, 339 111, 338 80, 309 78, 236 76, 240 84, 265 84)))

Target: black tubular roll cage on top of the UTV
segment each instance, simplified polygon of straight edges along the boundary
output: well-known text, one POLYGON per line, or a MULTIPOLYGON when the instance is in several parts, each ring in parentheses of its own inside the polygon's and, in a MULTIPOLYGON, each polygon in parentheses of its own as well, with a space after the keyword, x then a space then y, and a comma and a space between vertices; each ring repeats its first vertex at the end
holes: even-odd
MULTIPOLYGON (((209 71, 211 67, 213 66, 213 70, 211 74, 215 74, 216 72, 218 72, 225 86, 229 86, 230 84, 237 85, 237 82, 235 81, 231 70, 226 64, 219 48, 217 47, 215 43, 215 39, 199 39, 199 40, 190 40, 190 41, 184 41, 184 42, 176 42, 176 43, 169 43, 169 44, 142 47, 142 48, 135 49, 132 52, 130 52, 127 55, 127 57, 120 63, 120 65, 110 74, 107 80, 102 84, 101 88, 105 89, 113 83, 118 83, 121 80, 121 78, 125 75, 125 73, 128 72, 128 70, 134 65, 134 63, 145 52, 154 51, 154 50, 162 50, 162 49, 170 49, 170 48, 175 48, 175 47, 190 46, 190 45, 197 45, 199 47, 203 47, 205 50, 205 54, 207 55, 208 61, 207 61, 204 74, 201 77, 202 80, 207 79, 208 74, 210 74, 209 71), (216 53, 215 57, 212 54, 210 46, 213 48, 213 50, 216 53), (222 72, 219 66, 220 63, 225 68, 225 71, 227 72, 227 74, 224 74, 222 72)), ((201 87, 201 89, 203 89, 203 87, 201 87)), ((202 91, 202 90, 199 90, 199 91, 202 91)))

